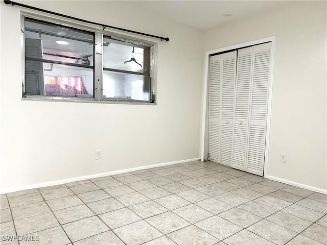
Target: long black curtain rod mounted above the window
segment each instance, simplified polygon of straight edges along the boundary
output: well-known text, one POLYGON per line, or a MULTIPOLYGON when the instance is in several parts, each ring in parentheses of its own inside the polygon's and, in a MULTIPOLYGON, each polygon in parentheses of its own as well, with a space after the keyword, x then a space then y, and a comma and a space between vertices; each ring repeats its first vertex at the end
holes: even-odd
POLYGON ((39 9, 39 8, 29 6, 29 5, 25 5, 25 4, 19 4, 19 3, 13 2, 13 1, 4 0, 4 3, 5 4, 11 4, 12 6, 17 5, 17 6, 20 6, 20 7, 33 9, 33 10, 41 11, 41 12, 48 13, 48 14, 54 14, 54 15, 58 15, 58 16, 61 16, 61 17, 82 21, 82 22, 85 22, 85 23, 96 24, 97 26, 102 26, 103 30, 106 29, 106 28, 111 28, 111 29, 116 29, 116 30, 120 30, 120 31, 124 31, 124 32, 131 32, 131 33, 135 33, 135 34, 139 34, 139 35, 143 35, 143 36, 154 37, 154 38, 158 38, 158 39, 161 39, 161 40, 165 40, 167 42, 169 41, 169 37, 159 37, 159 36, 155 36, 155 35, 151 35, 151 34, 147 34, 147 33, 143 33, 143 32, 136 32, 136 31, 132 31, 132 30, 124 29, 124 28, 119 28, 119 27, 112 27, 112 26, 108 26, 107 24, 92 22, 92 21, 88 21, 88 20, 85 20, 85 19, 80 19, 80 18, 76 18, 76 17, 65 15, 65 14, 52 12, 52 11, 45 10, 45 9, 39 9))

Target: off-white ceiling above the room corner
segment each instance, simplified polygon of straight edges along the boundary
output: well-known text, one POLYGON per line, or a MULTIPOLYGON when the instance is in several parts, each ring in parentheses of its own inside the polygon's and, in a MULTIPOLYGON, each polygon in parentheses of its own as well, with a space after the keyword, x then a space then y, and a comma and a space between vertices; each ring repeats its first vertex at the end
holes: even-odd
POLYGON ((125 6, 151 12, 200 30, 208 30, 229 21, 278 8, 289 1, 119 1, 125 6), (231 13, 225 17, 224 14, 231 13))

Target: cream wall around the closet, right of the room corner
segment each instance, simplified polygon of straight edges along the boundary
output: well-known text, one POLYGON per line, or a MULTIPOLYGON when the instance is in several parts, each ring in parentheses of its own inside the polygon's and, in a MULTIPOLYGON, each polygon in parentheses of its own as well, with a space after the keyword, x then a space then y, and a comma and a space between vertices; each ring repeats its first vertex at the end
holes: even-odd
POLYGON ((205 51, 276 36, 268 176, 327 189, 326 2, 291 2, 205 33, 205 51), (287 162, 279 162, 279 153, 287 162))

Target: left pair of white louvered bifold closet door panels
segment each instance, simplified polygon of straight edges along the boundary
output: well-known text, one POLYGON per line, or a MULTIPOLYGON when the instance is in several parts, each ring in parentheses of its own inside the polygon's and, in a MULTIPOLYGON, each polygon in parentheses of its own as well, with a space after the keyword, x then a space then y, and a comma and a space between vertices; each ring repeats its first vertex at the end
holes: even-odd
POLYGON ((236 51, 229 52, 209 60, 208 153, 212 161, 229 166, 236 55, 236 51))

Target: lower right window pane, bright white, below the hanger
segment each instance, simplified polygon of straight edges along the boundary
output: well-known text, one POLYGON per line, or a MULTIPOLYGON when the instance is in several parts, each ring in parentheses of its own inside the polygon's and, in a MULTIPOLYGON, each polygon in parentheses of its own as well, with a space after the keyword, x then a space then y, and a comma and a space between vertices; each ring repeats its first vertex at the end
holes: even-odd
POLYGON ((104 99, 150 100, 150 77, 103 71, 104 99))

